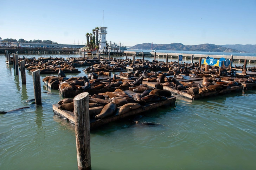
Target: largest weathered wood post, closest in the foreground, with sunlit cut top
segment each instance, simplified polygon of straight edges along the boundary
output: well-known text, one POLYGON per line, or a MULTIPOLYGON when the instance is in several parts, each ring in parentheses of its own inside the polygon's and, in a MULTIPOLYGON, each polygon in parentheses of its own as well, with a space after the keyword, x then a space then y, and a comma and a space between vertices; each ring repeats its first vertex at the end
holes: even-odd
POLYGON ((76 152, 79 170, 91 169, 89 93, 74 98, 76 152))

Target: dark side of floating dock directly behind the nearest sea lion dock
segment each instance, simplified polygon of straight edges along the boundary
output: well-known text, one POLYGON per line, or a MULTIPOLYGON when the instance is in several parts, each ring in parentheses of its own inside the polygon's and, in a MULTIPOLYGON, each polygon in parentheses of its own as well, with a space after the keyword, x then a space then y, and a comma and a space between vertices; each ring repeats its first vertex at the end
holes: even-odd
POLYGON ((101 89, 87 89, 87 90, 83 90, 83 89, 77 89, 77 90, 61 90, 60 89, 60 93, 62 95, 62 97, 64 98, 68 98, 68 97, 75 97, 76 95, 83 93, 83 92, 88 92, 89 95, 94 95, 94 94, 98 94, 98 93, 105 93, 107 91, 109 92, 114 92, 116 89, 122 89, 122 90, 129 90, 129 87, 110 87, 108 89, 105 88, 101 88, 101 89))

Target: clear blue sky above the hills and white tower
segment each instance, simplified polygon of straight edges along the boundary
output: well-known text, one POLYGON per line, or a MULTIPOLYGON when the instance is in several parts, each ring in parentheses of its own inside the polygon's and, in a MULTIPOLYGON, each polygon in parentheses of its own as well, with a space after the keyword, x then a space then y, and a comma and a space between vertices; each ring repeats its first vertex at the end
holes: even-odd
POLYGON ((256 44, 256 1, 0 0, 0 37, 86 42, 95 27, 107 41, 184 45, 256 44))

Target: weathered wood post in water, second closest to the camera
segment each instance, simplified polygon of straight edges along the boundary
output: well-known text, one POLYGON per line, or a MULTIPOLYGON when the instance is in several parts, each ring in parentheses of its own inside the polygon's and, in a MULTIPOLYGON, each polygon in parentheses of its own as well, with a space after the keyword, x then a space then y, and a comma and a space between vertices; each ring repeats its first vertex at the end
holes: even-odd
POLYGON ((41 105, 42 98, 41 98, 40 69, 32 72, 32 76, 33 76, 34 95, 35 95, 36 104, 41 105))

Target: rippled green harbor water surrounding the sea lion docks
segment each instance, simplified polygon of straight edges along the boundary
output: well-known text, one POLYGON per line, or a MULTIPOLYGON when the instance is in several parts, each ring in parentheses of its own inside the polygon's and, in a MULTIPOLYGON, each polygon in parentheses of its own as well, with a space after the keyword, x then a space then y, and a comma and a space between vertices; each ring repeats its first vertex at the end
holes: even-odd
MULTIPOLYGON (((49 55, 24 54, 37 58, 49 55)), ((66 74, 82 75, 83 71, 66 74)), ((41 80, 45 76, 41 75, 41 80)), ((13 66, 5 63, 4 54, 0 54, 0 77, 0 111, 31 106, 0 114, 0 170, 78 169, 74 125, 52 111, 52 104, 62 100, 59 91, 47 89, 41 81, 41 91, 47 92, 42 93, 42 106, 25 102, 34 98, 32 75, 26 72, 27 83, 21 84, 20 75, 16 76, 13 66)), ((160 107, 139 120, 159 125, 136 125, 124 120, 92 130, 92 170, 254 170, 255 100, 256 90, 195 101, 177 100, 175 107, 160 107)))

